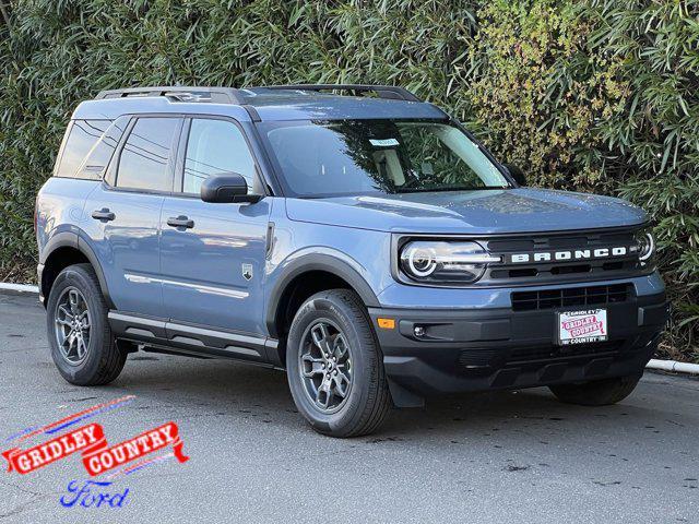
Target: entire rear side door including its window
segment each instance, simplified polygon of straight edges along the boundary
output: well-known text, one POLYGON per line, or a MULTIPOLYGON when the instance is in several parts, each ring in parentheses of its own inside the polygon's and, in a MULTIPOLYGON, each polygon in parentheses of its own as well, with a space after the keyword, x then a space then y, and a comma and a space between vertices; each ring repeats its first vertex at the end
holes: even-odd
POLYGON ((126 131, 85 213, 109 295, 120 311, 164 318, 159 217, 171 192, 181 118, 140 117, 126 131))

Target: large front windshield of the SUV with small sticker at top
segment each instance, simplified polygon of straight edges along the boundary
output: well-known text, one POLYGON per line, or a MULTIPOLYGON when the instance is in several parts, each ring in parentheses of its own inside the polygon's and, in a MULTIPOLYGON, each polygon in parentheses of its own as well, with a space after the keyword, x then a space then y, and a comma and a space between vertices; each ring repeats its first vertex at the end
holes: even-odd
POLYGON ((509 188, 481 147, 434 121, 342 120, 260 124, 297 196, 509 188))

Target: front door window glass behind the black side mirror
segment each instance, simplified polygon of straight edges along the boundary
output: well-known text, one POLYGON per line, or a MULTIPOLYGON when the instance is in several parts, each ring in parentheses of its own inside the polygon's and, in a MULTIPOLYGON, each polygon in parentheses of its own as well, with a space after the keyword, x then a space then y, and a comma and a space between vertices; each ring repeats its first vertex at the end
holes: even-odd
POLYGON ((238 127, 226 120, 193 119, 187 140, 182 192, 199 194, 212 175, 237 172, 252 187, 254 160, 238 127))

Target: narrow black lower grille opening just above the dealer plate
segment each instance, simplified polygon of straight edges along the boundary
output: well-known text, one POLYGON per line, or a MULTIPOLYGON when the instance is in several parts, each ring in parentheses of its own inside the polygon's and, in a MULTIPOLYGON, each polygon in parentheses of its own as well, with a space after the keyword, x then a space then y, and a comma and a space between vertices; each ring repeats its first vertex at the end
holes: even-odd
POLYGON ((538 291, 512 293, 514 311, 566 308, 571 306, 604 306, 624 302, 631 295, 630 284, 609 286, 569 287, 538 291))

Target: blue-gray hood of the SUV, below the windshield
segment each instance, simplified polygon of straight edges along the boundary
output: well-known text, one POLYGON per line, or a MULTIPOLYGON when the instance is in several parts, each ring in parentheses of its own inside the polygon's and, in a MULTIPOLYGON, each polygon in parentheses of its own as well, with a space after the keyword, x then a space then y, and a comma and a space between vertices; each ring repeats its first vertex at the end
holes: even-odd
POLYGON ((648 219, 624 200, 532 188, 288 199, 287 214, 315 224, 427 234, 593 229, 648 219))

